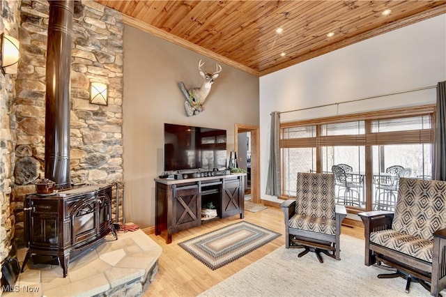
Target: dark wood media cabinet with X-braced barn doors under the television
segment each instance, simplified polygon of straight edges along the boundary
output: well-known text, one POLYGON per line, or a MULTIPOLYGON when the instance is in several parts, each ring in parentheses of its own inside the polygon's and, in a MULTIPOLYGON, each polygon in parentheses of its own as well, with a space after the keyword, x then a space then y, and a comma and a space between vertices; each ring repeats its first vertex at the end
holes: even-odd
POLYGON ((245 174, 172 180, 155 178, 155 235, 172 234, 200 226, 210 220, 201 218, 201 208, 212 202, 218 218, 240 215, 245 218, 245 174))

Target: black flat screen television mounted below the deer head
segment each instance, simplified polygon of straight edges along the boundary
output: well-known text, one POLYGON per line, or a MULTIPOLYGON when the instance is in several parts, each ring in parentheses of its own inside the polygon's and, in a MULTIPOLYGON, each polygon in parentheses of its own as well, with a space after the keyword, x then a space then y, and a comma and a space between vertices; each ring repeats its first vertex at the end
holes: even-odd
POLYGON ((164 172, 226 167, 226 130, 164 123, 164 172))

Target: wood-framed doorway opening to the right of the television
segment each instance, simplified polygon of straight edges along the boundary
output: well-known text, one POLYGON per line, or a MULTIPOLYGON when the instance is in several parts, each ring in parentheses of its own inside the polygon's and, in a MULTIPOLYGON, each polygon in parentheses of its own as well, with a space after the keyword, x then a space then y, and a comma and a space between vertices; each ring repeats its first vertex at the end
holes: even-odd
POLYGON ((238 165, 247 169, 245 188, 249 189, 251 201, 260 203, 260 128, 256 125, 235 125, 234 146, 238 165), (239 141, 240 139, 240 141, 239 141))

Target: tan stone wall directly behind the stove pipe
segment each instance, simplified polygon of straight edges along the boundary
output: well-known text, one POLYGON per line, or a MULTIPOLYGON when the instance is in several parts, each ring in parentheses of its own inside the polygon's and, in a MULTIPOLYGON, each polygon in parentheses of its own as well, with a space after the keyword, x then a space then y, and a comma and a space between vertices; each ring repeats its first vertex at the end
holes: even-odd
MULTIPOLYGON (((44 176, 45 67, 49 3, 23 0, 21 63, 14 101, 17 120, 15 185, 11 208, 20 210, 33 181, 44 176)), ((70 176, 72 183, 123 182, 123 22, 121 13, 95 1, 75 1, 71 64, 70 176), (89 102, 91 81, 108 84, 108 105, 89 102)), ((122 191, 122 186, 120 186, 122 191)), ((116 208, 114 207, 114 210, 116 208)), ((121 208, 122 209, 122 208, 121 208)), ((121 212, 120 212, 121 213, 121 212)), ((120 215, 120 217, 122 217, 120 215)), ((17 211, 15 242, 24 243, 24 213, 17 211)))

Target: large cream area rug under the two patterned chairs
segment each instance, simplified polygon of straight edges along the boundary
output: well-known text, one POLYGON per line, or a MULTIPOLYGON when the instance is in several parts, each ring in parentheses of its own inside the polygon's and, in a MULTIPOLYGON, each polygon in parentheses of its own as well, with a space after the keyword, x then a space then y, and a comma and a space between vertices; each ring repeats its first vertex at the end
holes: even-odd
POLYGON ((364 265, 363 240, 341 235, 340 246, 341 260, 323 256, 323 264, 314 253, 298 258, 302 249, 282 246, 199 296, 430 296, 416 282, 406 294, 401 277, 378 279, 390 271, 364 265))

